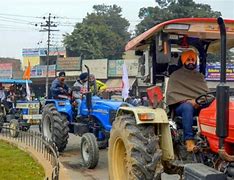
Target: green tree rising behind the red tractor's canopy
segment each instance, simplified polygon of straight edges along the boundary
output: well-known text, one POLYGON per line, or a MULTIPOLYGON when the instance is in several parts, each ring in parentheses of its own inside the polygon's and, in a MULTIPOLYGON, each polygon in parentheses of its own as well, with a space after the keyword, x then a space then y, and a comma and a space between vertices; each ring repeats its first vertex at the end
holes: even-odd
POLYGON ((156 7, 141 8, 136 34, 140 34, 163 21, 186 17, 219 17, 208 4, 195 3, 193 0, 155 0, 156 7))

